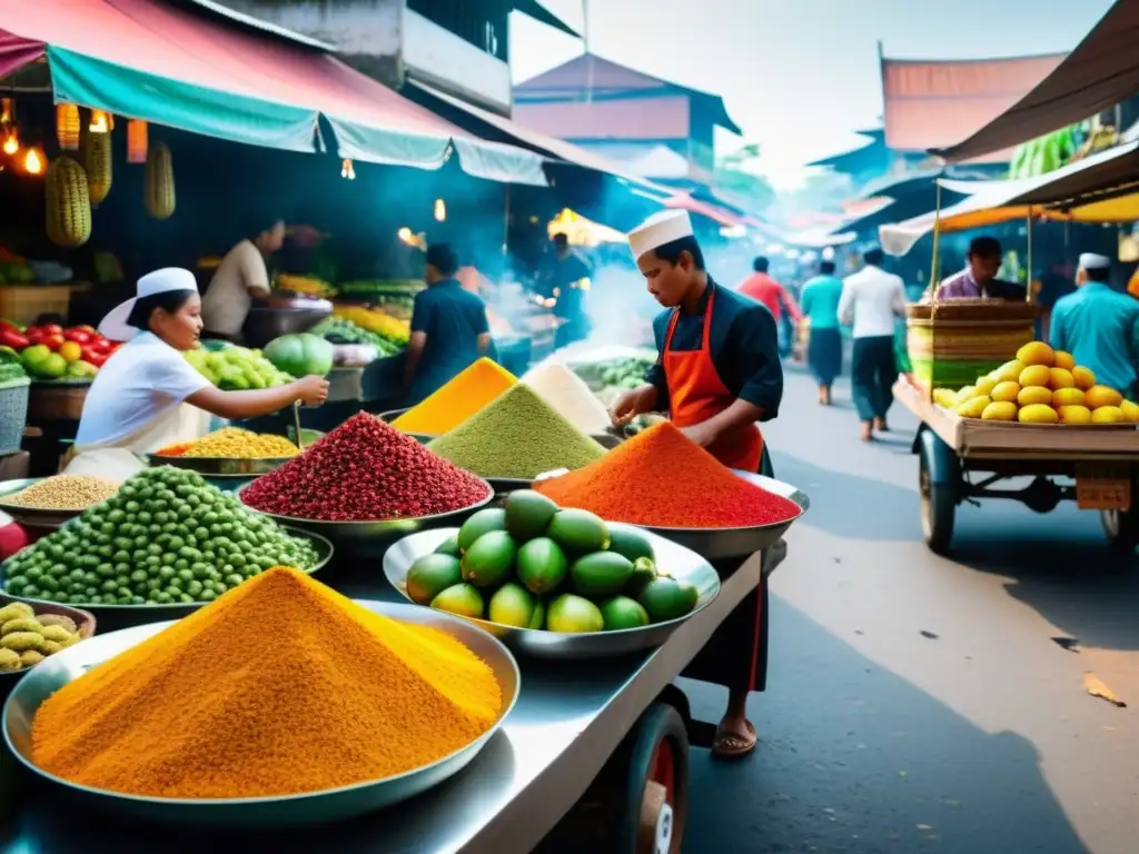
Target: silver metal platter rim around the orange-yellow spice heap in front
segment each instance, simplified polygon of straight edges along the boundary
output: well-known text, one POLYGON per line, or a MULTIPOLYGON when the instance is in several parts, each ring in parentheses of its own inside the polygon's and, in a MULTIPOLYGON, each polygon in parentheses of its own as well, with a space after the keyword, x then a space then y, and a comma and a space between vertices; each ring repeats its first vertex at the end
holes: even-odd
MULTIPOLYGON (((498 732, 518 698, 521 674, 510 651, 489 633, 449 614, 396 602, 359 602, 369 610, 404 623, 431 626, 466 644, 494 671, 502 690, 502 711, 478 739, 437 762, 396 777, 338 789, 261 798, 157 798, 93 789, 49 774, 32 761, 32 721, 40 705, 55 691, 87 671, 114 658, 173 623, 151 623, 100 634, 77 643, 39 665, 24 679, 3 707, 3 736, 11 752, 39 777, 60 786, 95 806, 133 818, 202 828, 280 828, 341 821, 380 810, 431 789, 461 771, 498 732)), ((192 703, 192 697, 187 698, 192 703)))

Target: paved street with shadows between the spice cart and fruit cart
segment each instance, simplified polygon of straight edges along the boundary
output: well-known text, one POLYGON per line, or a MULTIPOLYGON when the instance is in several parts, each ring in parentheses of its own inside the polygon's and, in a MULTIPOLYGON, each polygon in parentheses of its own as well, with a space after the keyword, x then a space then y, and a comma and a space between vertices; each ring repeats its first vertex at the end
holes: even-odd
MULTIPOLYGON (((931 555, 916 425, 895 411, 896 437, 863 446, 836 399, 792 373, 768 429, 812 510, 772 578, 760 747, 694 752, 686 852, 1136 854, 1139 565, 1109 561, 1092 515, 995 502, 964 510, 953 560, 931 555)), ((685 687, 719 716, 723 693, 685 687)))

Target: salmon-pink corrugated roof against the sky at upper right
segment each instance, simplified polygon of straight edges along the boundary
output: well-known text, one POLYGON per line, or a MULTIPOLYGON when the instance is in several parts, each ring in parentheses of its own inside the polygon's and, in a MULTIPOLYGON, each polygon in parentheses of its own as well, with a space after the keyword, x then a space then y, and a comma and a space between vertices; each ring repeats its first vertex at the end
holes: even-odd
MULTIPOLYGON (((951 146, 1016 104, 1064 54, 1006 59, 883 59, 886 145, 896 151, 951 146)), ((1010 151, 977 162, 1003 163, 1010 151)))

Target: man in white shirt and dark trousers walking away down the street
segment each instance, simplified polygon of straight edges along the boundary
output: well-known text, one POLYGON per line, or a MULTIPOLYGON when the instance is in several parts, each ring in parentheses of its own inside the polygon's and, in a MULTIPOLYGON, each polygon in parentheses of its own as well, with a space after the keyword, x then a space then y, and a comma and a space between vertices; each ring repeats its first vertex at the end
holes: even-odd
POLYGON ((863 442, 870 442, 875 430, 888 430, 886 412, 894 402, 898 379, 894 322, 906 317, 906 285, 900 276, 882 269, 882 257, 877 247, 867 251, 865 266, 845 279, 838 301, 839 322, 854 327, 851 387, 863 442))

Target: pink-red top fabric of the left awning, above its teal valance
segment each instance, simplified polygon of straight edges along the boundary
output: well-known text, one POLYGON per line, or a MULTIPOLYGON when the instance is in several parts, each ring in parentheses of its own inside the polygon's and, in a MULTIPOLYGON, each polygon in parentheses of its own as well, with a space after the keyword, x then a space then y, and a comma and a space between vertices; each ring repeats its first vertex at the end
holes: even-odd
POLYGON ((25 43, 374 128, 472 138, 328 54, 155 0, 5 2, 0 31, 25 43))

